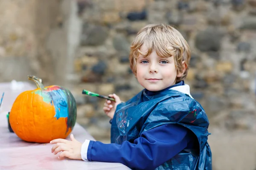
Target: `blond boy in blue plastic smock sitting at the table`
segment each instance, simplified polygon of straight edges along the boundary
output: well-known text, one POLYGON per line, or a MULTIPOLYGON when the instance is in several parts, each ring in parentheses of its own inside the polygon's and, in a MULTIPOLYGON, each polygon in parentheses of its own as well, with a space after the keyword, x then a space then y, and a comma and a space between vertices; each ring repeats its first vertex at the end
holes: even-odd
POLYGON ((127 102, 115 94, 110 96, 116 102, 105 102, 111 144, 81 144, 71 135, 71 141, 51 141, 52 152, 63 151, 59 157, 70 159, 120 162, 134 170, 211 170, 209 121, 183 81, 190 60, 186 40, 171 26, 148 25, 132 42, 129 59, 145 89, 127 102))

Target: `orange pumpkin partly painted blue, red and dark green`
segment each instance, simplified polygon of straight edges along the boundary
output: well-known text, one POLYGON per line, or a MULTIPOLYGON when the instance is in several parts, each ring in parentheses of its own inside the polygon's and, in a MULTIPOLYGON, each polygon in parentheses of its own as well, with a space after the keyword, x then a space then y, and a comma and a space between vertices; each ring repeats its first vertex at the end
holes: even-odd
POLYGON ((65 139, 76 123, 76 100, 57 85, 44 87, 42 80, 28 76, 37 89, 17 96, 9 115, 12 130, 27 142, 47 143, 65 139))

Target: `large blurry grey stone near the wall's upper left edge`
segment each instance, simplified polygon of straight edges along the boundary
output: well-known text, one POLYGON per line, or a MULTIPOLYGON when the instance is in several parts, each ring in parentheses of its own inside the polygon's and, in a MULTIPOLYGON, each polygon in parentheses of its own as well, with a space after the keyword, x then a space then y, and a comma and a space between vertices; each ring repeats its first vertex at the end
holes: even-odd
POLYGON ((108 28, 97 25, 83 25, 81 34, 81 45, 102 45, 108 38, 108 28))

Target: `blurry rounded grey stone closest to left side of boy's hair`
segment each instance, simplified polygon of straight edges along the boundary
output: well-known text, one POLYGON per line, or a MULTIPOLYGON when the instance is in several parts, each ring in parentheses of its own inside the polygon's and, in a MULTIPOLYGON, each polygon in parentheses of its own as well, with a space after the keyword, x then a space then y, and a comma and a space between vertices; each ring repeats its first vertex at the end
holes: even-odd
POLYGON ((121 34, 117 34, 113 38, 113 46, 116 49, 116 51, 122 51, 122 52, 126 52, 126 53, 130 52, 130 48, 129 48, 130 44, 129 44, 128 40, 126 39, 126 37, 121 34))

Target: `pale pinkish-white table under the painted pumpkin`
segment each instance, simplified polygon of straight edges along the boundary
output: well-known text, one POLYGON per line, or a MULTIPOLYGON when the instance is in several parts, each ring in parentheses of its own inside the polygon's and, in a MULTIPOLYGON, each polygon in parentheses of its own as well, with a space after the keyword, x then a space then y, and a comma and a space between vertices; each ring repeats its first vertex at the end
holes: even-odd
MULTIPOLYGON (((0 170, 130 170, 120 163, 80 161, 67 158, 59 160, 58 155, 51 153, 52 144, 25 142, 15 133, 10 133, 6 114, 21 92, 35 89, 35 86, 28 82, 19 83, 22 88, 15 90, 13 88, 17 86, 10 82, 0 83, 0 96, 3 91, 5 92, 0 110, 0 170)), ((80 142, 84 142, 85 139, 95 140, 78 123, 72 133, 80 142)))

